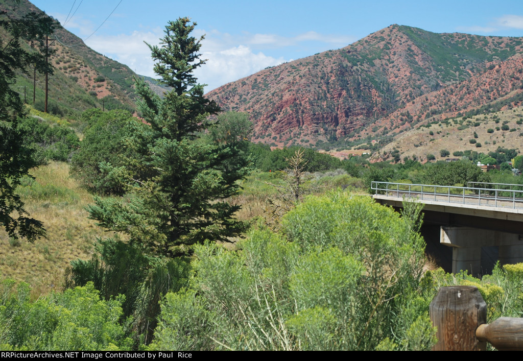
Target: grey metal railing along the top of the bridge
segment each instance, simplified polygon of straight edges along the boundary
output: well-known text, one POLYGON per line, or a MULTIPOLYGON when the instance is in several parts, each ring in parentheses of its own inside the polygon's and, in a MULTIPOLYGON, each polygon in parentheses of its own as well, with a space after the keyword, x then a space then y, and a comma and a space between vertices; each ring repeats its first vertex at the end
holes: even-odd
MULTIPOLYGON (((490 183, 490 185, 502 184, 490 183)), ((371 182, 371 189, 374 190, 375 194, 394 197, 416 197, 420 200, 434 200, 486 207, 523 208, 523 190, 518 189, 438 186, 393 182, 371 182)))

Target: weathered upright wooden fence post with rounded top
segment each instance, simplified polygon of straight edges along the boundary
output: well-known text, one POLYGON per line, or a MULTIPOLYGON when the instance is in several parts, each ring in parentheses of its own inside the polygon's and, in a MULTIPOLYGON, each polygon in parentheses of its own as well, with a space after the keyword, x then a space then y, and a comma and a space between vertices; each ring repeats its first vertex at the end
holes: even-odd
POLYGON ((477 287, 441 287, 430 302, 430 320, 438 328, 435 351, 485 351, 476 329, 486 323, 487 308, 477 287))

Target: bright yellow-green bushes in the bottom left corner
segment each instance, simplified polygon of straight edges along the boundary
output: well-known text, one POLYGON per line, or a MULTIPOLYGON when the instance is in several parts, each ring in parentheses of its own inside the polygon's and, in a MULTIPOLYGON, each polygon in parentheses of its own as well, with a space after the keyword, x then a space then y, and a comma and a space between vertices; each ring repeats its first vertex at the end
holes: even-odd
POLYGON ((29 301, 29 286, 0 281, 0 349, 128 350, 130 333, 120 323, 123 297, 100 301, 93 284, 29 301))

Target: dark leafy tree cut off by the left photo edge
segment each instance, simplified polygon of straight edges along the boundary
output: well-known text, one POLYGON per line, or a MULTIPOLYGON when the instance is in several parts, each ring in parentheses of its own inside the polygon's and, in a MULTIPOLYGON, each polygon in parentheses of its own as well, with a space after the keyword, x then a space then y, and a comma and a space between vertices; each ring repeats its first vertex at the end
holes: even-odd
POLYGON ((18 3, 17 0, 0 1, 0 28, 6 35, 6 40, 0 38, 0 225, 9 236, 21 236, 33 242, 45 234, 43 224, 30 218, 15 191, 20 178, 29 175, 29 169, 36 162, 18 127, 24 107, 11 86, 16 82, 16 71, 27 74, 29 65, 52 74, 52 66, 46 63, 45 55, 28 50, 24 43, 32 48, 42 46, 45 36, 54 31, 56 22, 43 13, 16 16, 18 3))

